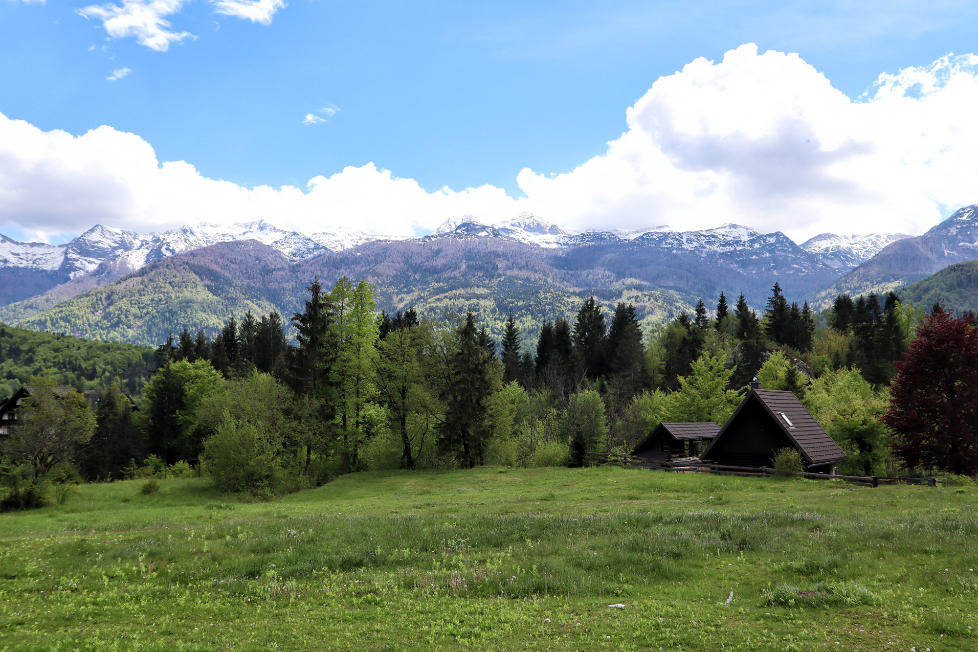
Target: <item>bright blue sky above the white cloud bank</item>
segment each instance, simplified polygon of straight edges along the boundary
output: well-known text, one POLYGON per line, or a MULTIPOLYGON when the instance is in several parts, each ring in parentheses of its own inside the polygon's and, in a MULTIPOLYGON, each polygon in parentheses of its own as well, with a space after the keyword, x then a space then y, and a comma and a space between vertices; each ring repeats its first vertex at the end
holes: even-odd
POLYGON ((375 163, 428 192, 512 198, 524 167, 605 153, 625 110, 696 58, 796 52, 857 98, 882 72, 975 51, 978 26, 974 2, 291 0, 261 24, 191 0, 164 18, 193 36, 162 52, 111 38, 88 6, 0 0, 0 113, 73 135, 110 125, 245 188, 375 163))

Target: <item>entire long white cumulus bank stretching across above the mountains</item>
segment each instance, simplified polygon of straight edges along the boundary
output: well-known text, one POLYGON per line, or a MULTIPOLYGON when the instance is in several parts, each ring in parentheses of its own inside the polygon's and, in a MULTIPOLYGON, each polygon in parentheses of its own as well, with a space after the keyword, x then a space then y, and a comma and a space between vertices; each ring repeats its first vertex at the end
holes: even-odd
POLYGON ((920 233, 978 202, 976 105, 972 55, 882 74, 854 100, 797 55, 745 45, 655 81, 604 154, 556 176, 523 169, 519 199, 488 185, 427 192, 373 163, 304 188, 249 189, 159 163, 149 143, 109 126, 72 136, 0 116, 0 224, 43 237, 96 222, 149 231, 271 217, 306 233, 411 235, 448 217, 529 210, 576 229, 730 221, 797 241, 920 233))

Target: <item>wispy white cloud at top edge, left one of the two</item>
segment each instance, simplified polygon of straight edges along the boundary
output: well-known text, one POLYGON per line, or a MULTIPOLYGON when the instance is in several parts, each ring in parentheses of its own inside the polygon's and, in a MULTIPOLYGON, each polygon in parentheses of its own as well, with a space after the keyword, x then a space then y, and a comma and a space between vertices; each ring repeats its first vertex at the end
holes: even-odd
POLYGON ((96 18, 112 38, 134 36, 140 45, 166 52, 170 43, 197 38, 189 31, 170 31, 164 16, 177 14, 185 0, 122 0, 122 5, 89 5, 78 10, 80 16, 96 18))

